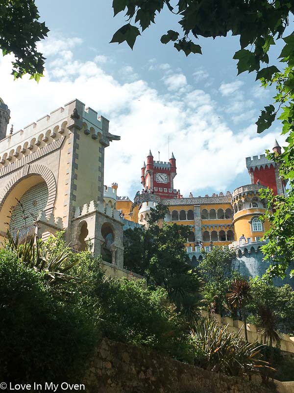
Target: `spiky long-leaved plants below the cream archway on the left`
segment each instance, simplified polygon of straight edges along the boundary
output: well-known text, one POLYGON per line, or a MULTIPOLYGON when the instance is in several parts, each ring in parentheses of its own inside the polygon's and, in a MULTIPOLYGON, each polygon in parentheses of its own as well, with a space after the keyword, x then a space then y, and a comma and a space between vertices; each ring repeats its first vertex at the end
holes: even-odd
POLYGON ((71 253, 68 248, 48 259, 46 250, 40 248, 35 233, 29 240, 25 239, 25 242, 20 244, 19 234, 17 233, 14 240, 10 231, 7 230, 7 239, 7 249, 15 252, 27 268, 43 273, 45 284, 52 293, 66 295, 73 292, 73 288, 81 281, 69 274, 78 263, 78 259, 70 261, 71 253))

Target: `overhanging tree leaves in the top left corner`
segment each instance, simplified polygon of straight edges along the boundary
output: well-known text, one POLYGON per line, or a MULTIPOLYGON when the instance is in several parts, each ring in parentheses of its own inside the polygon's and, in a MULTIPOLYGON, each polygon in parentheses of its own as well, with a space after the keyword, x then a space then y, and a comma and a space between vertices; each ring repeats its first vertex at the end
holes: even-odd
POLYGON ((43 76, 43 55, 36 43, 47 37, 49 29, 39 22, 34 0, 0 0, 0 49, 3 55, 12 53, 12 75, 31 75, 37 82, 43 76))

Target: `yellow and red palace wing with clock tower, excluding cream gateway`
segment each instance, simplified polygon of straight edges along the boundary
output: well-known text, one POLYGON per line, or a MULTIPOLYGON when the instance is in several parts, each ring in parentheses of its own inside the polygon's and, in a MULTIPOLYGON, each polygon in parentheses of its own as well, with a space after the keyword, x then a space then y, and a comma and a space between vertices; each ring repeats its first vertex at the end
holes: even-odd
MULTIPOLYGON (((281 153, 275 140, 272 150, 281 153)), ((245 276, 261 276, 269 264, 263 261, 261 246, 269 223, 259 217, 266 212, 260 189, 271 188, 275 195, 285 194, 285 182, 279 177, 278 166, 265 155, 246 158, 250 184, 242 185, 232 193, 183 197, 173 188, 176 160, 172 153, 169 162, 154 161, 151 151, 141 168, 142 192, 134 201, 118 197, 116 207, 124 219, 147 226, 150 209, 157 204, 168 206, 165 221, 178 225, 190 225, 191 231, 186 249, 191 263, 196 266, 202 260, 201 249, 211 251, 213 246, 234 248, 237 258, 235 268, 245 276)), ((279 280, 276 280, 278 282, 279 280)))

